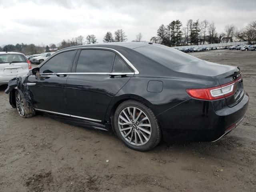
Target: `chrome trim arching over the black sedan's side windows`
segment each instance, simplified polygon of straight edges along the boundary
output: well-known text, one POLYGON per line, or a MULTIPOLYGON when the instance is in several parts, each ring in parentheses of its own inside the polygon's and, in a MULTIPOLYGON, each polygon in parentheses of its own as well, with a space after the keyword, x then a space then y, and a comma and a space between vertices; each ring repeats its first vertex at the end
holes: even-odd
MULTIPOLYGON (((134 70, 133 74, 139 74, 140 72, 134 67, 134 65, 125 57, 123 56, 119 51, 112 49, 112 48, 106 48, 106 47, 78 47, 78 48, 70 48, 70 49, 66 49, 66 50, 62 50, 60 52, 57 52, 55 54, 59 54, 62 52, 66 52, 66 51, 71 51, 71 50, 81 50, 81 49, 106 49, 106 50, 112 50, 114 52, 116 52, 116 54, 118 54, 120 57, 122 57, 124 59, 124 61, 132 68, 132 70, 134 70)), ((53 56, 55 56, 55 54, 51 55, 50 57, 48 57, 42 64, 44 64, 45 62, 47 62, 50 58, 52 58, 53 56)), ((38 67, 40 68, 42 66, 42 64, 40 64, 38 67)), ((86 73, 83 73, 86 74, 86 73)), ((95 73, 94 73, 95 74, 95 73)))

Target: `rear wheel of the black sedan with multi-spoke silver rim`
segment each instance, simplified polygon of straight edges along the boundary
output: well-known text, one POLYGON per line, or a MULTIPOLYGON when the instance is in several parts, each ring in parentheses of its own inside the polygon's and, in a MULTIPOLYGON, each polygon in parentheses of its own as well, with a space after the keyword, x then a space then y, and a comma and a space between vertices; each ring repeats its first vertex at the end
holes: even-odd
POLYGON ((138 151, 148 151, 161 140, 161 129, 154 112, 134 100, 122 102, 114 114, 114 128, 118 137, 138 151))

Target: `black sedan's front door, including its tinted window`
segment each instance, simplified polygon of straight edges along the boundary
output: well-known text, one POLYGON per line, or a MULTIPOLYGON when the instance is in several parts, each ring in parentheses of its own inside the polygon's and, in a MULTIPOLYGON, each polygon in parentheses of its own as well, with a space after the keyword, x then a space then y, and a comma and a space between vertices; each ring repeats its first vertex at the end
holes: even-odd
POLYGON ((36 110, 67 113, 66 81, 76 52, 60 52, 40 66, 39 74, 28 77, 28 88, 36 110))

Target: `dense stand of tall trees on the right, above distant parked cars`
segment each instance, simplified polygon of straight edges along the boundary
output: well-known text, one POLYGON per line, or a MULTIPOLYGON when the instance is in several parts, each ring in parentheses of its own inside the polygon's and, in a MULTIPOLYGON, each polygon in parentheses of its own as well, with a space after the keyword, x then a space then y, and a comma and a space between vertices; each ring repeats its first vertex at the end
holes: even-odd
POLYGON ((213 44, 220 42, 256 40, 256 21, 250 22, 246 27, 238 30, 233 24, 228 24, 224 32, 218 33, 214 22, 208 20, 189 19, 185 26, 180 20, 173 20, 167 25, 160 25, 156 36, 150 42, 166 46, 213 44))

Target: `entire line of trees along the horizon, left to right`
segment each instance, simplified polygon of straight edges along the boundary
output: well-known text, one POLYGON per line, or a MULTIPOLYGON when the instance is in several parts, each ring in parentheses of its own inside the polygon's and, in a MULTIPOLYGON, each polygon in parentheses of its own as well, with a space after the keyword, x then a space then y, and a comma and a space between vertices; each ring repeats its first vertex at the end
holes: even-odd
MULTIPOLYGON (((227 24, 224 32, 217 32, 214 22, 208 20, 189 19, 185 25, 180 20, 173 20, 167 25, 160 25, 156 31, 156 36, 150 38, 150 42, 163 44, 166 46, 182 46, 182 45, 198 45, 198 44, 213 44, 220 42, 233 41, 248 41, 249 44, 256 40, 256 21, 250 22, 246 27, 238 30, 233 24, 227 24)), ((106 32, 103 42, 126 42, 127 36, 122 29, 116 30, 114 33, 106 32)), ((142 33, 136 35, 133 42, 142 41, 142 33)), ((40 54, 42 52, 50 52, 51 49, 62 49, 70 46, 77 46, 83 44, 95 44, 97 38, 94 34, 87 35, 86 38, 80 35, 75 38, 62 40, 57 46, 55 44, 44 44, 36 46, 35 44, 8 44, 0 51, 16 51, 28 54, 40 54)), ((54 50, 55 51, 55 50, 54 50)))

